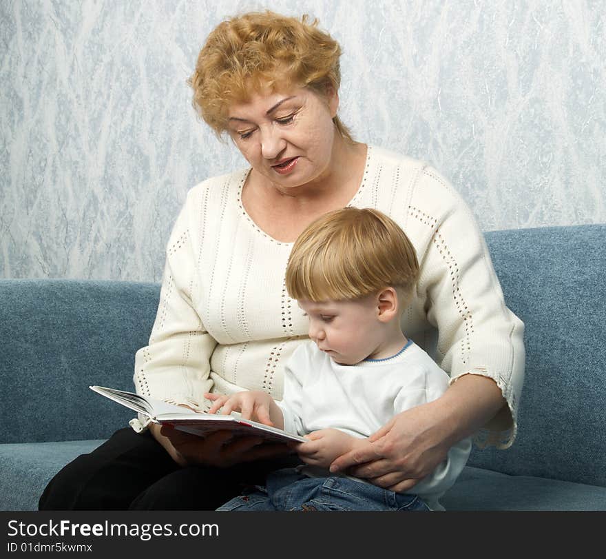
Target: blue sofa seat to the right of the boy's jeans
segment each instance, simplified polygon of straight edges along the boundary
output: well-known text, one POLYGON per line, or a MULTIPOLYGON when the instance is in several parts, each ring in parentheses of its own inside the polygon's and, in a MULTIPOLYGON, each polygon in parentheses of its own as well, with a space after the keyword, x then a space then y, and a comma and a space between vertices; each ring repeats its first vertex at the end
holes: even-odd
POLYGON ((441 503, 447 511, 604 511, 606 487, 467 466, 441 503))

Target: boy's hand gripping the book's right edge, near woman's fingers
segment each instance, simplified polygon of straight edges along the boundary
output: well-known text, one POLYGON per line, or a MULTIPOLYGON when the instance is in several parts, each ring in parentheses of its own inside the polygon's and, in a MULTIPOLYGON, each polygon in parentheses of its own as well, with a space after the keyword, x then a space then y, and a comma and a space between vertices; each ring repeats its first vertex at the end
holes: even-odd
POLYGON ((295 447, 299 458, 306 464, 325 469, 330 467, 337 456, 370 445, 367 439, 353 437, 339 429, 320 429, 305 438, 309 439, 309 442, 300 443, 295 447))

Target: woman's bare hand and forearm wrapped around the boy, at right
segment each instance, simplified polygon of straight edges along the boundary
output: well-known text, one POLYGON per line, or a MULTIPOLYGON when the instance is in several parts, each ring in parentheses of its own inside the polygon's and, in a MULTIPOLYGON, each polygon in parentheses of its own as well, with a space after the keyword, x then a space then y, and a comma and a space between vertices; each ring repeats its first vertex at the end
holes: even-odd
POLYGON ((339 456, 330 469, 347 469, 379 487, 406 492, 446 458, 452 445, 493 418, 504 401, 492 379, 467 374, 437 400, 394 416, 368 438, 371 445, 339 456))

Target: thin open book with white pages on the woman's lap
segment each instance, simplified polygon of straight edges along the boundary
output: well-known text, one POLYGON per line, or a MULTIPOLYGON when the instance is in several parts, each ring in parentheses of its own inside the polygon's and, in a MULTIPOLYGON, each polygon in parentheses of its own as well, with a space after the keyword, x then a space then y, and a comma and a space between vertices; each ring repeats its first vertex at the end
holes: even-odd
POLYGON ((307 440, 302 436, 286 433, 286 431, 277 427, 269 427, 269 425, 263 425, 256 421, 242 419, 240 414, 229 416, 206 414, 193 411, 187 407, 167 404, 162 400, 145 398, 134 392, 125 392, 103 386, 90 386, 89 388, 101 394, 101 396, 149 417, 154 423, 172 425, 175 429, 194 435, 205 435, 211 431, 227 429, 236 431, 238 435, 260 436, 273 443, 286 443, 288 441, 303 443, 307 440))

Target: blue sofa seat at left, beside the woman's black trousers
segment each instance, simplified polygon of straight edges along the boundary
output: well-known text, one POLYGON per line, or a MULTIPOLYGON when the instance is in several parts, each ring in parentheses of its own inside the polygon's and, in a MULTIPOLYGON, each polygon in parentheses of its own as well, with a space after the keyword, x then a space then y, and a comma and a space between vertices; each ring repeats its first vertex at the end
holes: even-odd
POLYGON ((0 445, 0 510, 35 511, 54 474, 103 440, 0 445))

